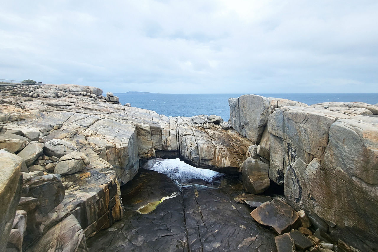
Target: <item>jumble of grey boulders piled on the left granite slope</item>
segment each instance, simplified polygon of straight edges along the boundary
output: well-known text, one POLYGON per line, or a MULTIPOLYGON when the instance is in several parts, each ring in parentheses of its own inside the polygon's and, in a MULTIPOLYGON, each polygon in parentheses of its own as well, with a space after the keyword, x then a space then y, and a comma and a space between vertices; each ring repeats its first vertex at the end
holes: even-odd
MULTIPOLYGON (((55 125, 50 131, 57 130, 55 125)), ((48 128, 47 128, 48 129, 48 128)), ((65 187, 61 175, 81 172, 90 164, 87 156, 65 140, 44 142, 40 131, 21 131, 0 126, 2 160, 14 159, 22 172, 21 198, 17 206, 7 251, 22 251, 28 241, 42 235, 41 224, 48 213, 64 199, 65 187)))

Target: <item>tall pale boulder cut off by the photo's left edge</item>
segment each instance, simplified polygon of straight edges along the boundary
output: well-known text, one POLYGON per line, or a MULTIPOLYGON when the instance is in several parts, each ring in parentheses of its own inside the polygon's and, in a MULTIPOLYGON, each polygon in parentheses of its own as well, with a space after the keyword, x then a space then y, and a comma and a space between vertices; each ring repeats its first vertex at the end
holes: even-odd
POLYGON ((0 161, 0 251, 5 251, 20 201, 23 159, 0 150, 0 161))

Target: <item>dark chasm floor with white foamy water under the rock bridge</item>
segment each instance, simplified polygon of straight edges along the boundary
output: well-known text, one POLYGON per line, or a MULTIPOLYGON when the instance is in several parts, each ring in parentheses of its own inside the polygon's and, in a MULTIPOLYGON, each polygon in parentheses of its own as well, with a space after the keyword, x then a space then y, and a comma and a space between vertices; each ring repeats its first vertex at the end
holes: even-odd
POLYGON ((88 239, 90 251, 276 251, 274 232, 233 200, 246 193, 238 177, 179 159, 142 167, 121 187, 122 220, 88 239))

